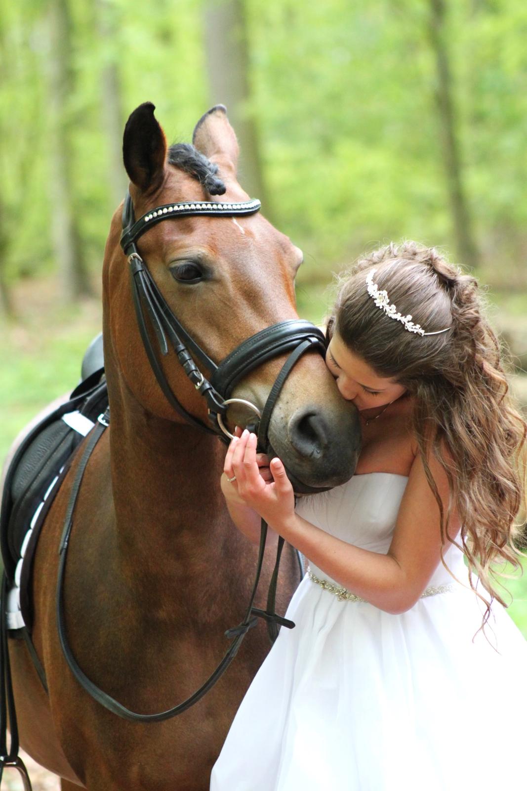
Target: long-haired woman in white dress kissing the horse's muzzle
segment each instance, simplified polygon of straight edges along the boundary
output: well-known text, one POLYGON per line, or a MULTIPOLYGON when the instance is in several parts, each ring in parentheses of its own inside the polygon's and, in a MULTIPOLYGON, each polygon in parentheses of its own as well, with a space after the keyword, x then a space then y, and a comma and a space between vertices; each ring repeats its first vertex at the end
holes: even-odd
POLYGON ((328 336, 362 418, 354 477, 295 509, 254 434, 225 459, 237 527, 258 541, 262 515, 310 567, 211 789, 525 788, 527 643, 491 577, 495 562, 518 566, 525 422, 476 281, 433 249, 390 244, 354 267, 328 336))

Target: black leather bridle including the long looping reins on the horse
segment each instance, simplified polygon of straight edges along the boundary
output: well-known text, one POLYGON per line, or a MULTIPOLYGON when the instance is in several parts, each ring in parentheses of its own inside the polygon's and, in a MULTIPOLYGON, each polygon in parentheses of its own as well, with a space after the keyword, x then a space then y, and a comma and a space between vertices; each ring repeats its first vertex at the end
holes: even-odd
MULTIPOLYGON (((269 439, 267 437, 267 430, 269 428, 269 421, 273 408, 277 403, 278 395, 284 384, 288 373, 290 373, 295 362, 309 350, 317 350, 320 353, 325 353, 326 343, 322 331, 318 330, 314 324, 302 320, 289 320, 282 321, 278 324, 273 324, 272 327, 266 327, 264 330, 252 335, 249 339, 241 343, 235 348, 228 356, 216 365, 207 354, 198 346, 197 343, 191 338, 186 329, 179 323, 167 302, 164 300, 163 295, 157 288, 156 283, 153 281, 151 274, 146 267, 145 261, 137 251, 136 241, 145 231, 152 225, 156 225, 164 219, 185 217, 189 215, 205 214, 209 216, 226 216, 234 217, 243 214, 254 214, 260 209, 260 202, 257 200, 247 201, 243 203, 219 203, 219 202, 188 202, 188 203, 171 203, 164 206, 157 206, 156 209, 144 214, 139 220, 134 219, 134 206, 130 198, 130 194, 126 195, 126 200, 122 212, 122 237, 121 245, 125 254, 128 256, 130 263, 130 273, 132 279, 132 290, 134 294, 134 305, 137 315, 137 324, 141 332, 141 339, 145 346, 146 354, 149 358, 150 365, 152 366, 153 373, 160 384, 160 388, 164 395, 174 407, 175 411, 180 414, 192 426, 196 426, 202 430, 209 431, 210 433, 217 434, 224 441, 228 441, 231 436, 224 426, 224 415, 227 411, 229 403, 244 403, 247 404, 255 414, 258 415, 258 443, 262 449, 268 450, 269 439), (175 350, 175 354, 179 360, 180 365, 183 366, 187 377, 194 384, 194 387, 205 397, 207 407, 209 409, 209 421, 211 426, 205 425, 204 422, 196 418, 193 414, 186 411, 185 407, 176 398, 174 392, 168 384, 168 380, 164 376, 163 369, 160 362, 156 358, 155 350, 153 349, 150 341, 148 328, 145 322, 145 315, 143 312, 143 305, 148 312, 149 319, 152 323, 153 330, 156 334, 157 341, 160 346, 161 354, 168 354, 168 341, 175 350), (190 353, 190 351, 192 354, 190 353), (232 399, 229 395, 235 384, 247 376, 258 365, 263 362, 275 358, 280 354, 289 352, 289 357, 285 361, 277 379, 275 380, 269 396, 262 410, 262 414, 255 407, 254 404, 243 399, 232 399), (193 355, 198 358, 201 364, 212 372, 210 380, 207 380, 203 373, 198 369, 194 361, 193 355)), ((277 560, 274 566, 273 574, 269 584, 269 593, 267 596, 267 606, 265 610, 254 607, 254 599, 258 589, 258 581, 262 571, 262 564, 265 551, 265 538, 267 535, 267 524, 262 520, 262 531, 260 536, 260 547, 258 550, 257 570, 255 574, 253 588, 250 594, 250 601, 245 612, 243 621, 238 626, 227 630, 226 636, 232 639, 232 644, 229 646, 228 651, 224 654, 223 659, 218 664, 216 670, 213 672, 209 679, 205 681, 189 698, 179 703, 177 706, 172 707, 166 711, 152 714, 140 714, 123 706, 111 695, 107 694, 100 689, 91 679, 86 676, 85 672, 77 663, 73 656, 73 652, 69 645, 66 635, 66 619, 64 615, 63 603, 63 587, 64 576, 66 572, 66 555, 68 544, 70 541, 70 533, 73 527, 73 517, 77 497, 81 488, 82 478, 85 469, 88 465, 88 460, 91 456, 93 449, 96 447, 97 442, 104 433, 108 426, 108 414, 101 415, 99 422, 92 429, 88 436, 84 451, 81 456, 80 463, 77 465, 75 479, 73 480, 72 490, 70 494, 70 501, 66 509, 66 520, 62 528, 62 539, 59 547, 59 563, 58 563, 58 583, 57 583, 57 600, 56 600, 56 613, 57 613, 57 629, 58 638, 62 646, 62 653, 66 658, 66 662, 70 667, 73 676, 77 679, 81 687, 88 692, 96 701, 100 702, 108 710, 119 717, 124 717, 131 721, 152 722, 168 720, 175 717, 176 714, 182 713, 186 709, 193 706, 198 702, 203 695, 209 691, 213 684, 223 675, 224 671, 231 664, 243 638, 253 626, 258 623, 258 618, 262 618, 267 623, 267 629, 271 641, 277 638, 280 626, 287 626, 291 629, 295 626, 292 621, 285 619, 283 616, 275 612, 275 598, 277 591, 278 569, 280 566, 280 555, 284 546, 284 539, 279 536, 277 543, 277 560)), ((303 487, 307 490, 307 486, 303 487)), ((317 490, 320 491, 320 490, 317 490)), ((300 562, 300 572, 303 575, 303 565, 300 562)))

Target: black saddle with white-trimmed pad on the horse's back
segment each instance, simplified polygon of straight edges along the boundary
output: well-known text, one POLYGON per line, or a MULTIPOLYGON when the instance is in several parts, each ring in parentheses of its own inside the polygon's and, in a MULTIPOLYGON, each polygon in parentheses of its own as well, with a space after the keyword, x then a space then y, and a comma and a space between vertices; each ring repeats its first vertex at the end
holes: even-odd
POLYGON ((102 334, 92 341, 82 363, 82 380, 70 399, 47 414, 24 438, 6 472, 0 510, 0 548, 8 585, 15 581, 24 551, 21 610, 31 630, 28 580, 40 527, 90 423, 107 409, 102 334), (38 515, 36 509, 40 508, 38 515), (32 533, 27 538, 33 520, 32 533), (26 546, 22 547, 23 543, 26 546))

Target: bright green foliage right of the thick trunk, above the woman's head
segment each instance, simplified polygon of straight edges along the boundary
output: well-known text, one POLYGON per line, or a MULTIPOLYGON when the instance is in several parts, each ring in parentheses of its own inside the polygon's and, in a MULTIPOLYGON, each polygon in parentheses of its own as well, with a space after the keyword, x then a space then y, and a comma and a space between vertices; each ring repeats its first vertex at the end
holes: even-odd
MULTIPOLYGON (((493 262, 499 249, 518 274, 527 165, 525 97, 518 95, 525 8, 448 7, 469 203, 485 258, 493 262)), ((254 102, 269 110, 261 120, 266 165, 288 233, 307 240, 325 262, 393 237, 452 249, 428 4, 258 0, 250 9, 254 102)))

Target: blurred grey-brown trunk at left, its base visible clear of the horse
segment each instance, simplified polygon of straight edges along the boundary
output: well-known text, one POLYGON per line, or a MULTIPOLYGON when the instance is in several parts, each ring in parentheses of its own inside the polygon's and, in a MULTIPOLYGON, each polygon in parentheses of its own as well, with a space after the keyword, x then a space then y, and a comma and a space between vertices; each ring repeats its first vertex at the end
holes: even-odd
POLYGON ((71 120, 68 102, 73 94, 71 21, 68 0, 49 3, 48 97, 50 123, 49 196, 55 256, 66 301, 91 292, 85 269, 81 235, 75 212, 75 191, 71 174, 71 120))

